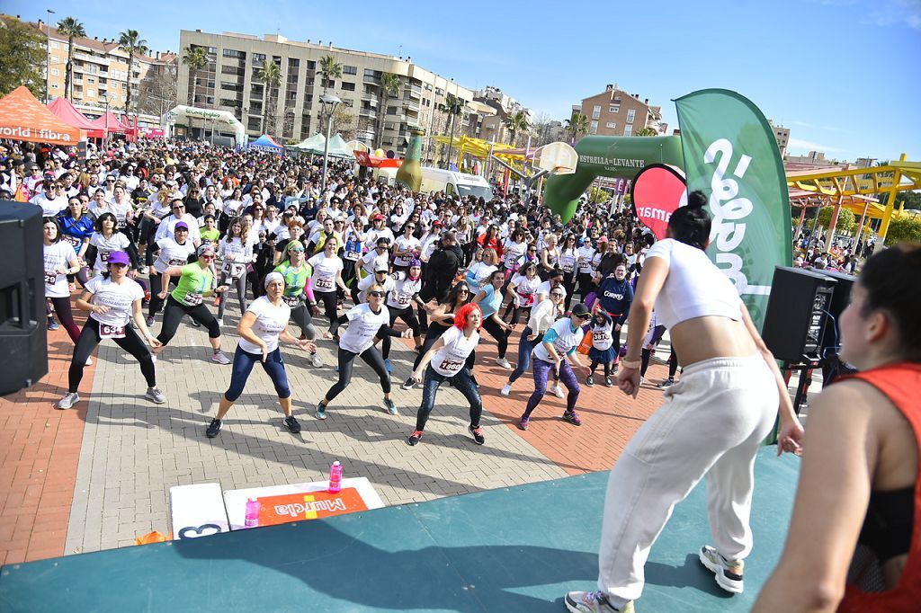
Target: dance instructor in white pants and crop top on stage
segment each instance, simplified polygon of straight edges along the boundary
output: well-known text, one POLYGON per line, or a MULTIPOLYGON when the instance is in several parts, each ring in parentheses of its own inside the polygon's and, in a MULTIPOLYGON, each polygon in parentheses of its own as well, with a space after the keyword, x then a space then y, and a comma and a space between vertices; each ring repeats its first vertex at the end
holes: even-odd
POLYGON ((799 425, 774 356, 733 284, 706 257, 710 215, 694 191, 671 215, 668 237, 649 249, 630 310, 618 385, 639 389, 640 353, 653 306, 685 364, 665 404, 639 429, 611 470, 604 501, 598 590, 570 592, 579 613, 630 611, 649 549, 674 508, 706 477, 714 546, 698 552, 723 589, 742 591, 752 549, 754 457, 777 412, 777 453, 799 450, 799 425))

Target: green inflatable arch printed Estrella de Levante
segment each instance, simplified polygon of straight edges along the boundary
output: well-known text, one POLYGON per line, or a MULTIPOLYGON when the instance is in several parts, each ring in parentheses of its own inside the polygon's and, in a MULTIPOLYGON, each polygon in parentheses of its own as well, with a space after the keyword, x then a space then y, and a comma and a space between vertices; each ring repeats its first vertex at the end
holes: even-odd
POLYGON ((633 179, 656 163, 684 168, 679 136, 586 136, 577 143, 576 153, 576 172, 547 179, 543 196, 544 204, 563 223, 576 214, 578 197, 596 177, 633 179))

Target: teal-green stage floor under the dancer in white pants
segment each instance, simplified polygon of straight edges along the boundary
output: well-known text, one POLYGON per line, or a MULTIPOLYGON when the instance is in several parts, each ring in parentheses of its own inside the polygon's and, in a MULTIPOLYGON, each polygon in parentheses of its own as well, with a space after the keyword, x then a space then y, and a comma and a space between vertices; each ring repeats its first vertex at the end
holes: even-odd
MULTIPOLYGON (((799 460, 761 450, 745 594, 697 561, 705 486, 652 549, 638 611, 747 611, 783 547, 799 460)), ((594 589, 607 472, 0 570, 0 611, 562 611, 594 589)))

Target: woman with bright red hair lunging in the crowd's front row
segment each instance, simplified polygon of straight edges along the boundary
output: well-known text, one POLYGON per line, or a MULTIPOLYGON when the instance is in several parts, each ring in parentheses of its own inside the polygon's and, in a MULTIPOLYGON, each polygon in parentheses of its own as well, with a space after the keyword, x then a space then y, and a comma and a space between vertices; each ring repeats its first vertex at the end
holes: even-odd
POLYGON ((423 383, 422 404, 415 417, 415 430, 407 443, 418 445, 426 429, 426 422, 435 407, 435 395, 442 381, 451 380, 451 385, 470 402, 470 426, 477 445, 483 445, 485 438, 480 427, 480 415, 483 413, 483 400, 480 391, 473 383, 471 372, 464 367, 467 357, 480 342, 480 325, 483 323, 483 311, 479 305, 464 305, 454 314, 454 325, 435 341, 432 348, 422 357, 422 361, 413 373, 416 383, 423 383), (424 382, 425 381, 425 382, 424 382))

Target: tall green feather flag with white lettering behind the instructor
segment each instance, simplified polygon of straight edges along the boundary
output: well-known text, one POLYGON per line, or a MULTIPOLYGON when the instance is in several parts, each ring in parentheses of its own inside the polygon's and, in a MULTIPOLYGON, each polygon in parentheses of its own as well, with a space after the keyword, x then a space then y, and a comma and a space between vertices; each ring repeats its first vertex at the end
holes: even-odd
POLYGON ((710 195, 707 255, 736 285, 761 330, 776 266, 793 258, 787 176, 774 131, 752 101, 727 89, 675 100, 688 192, 710 195))

